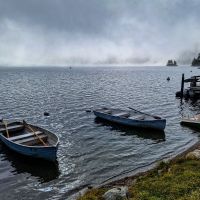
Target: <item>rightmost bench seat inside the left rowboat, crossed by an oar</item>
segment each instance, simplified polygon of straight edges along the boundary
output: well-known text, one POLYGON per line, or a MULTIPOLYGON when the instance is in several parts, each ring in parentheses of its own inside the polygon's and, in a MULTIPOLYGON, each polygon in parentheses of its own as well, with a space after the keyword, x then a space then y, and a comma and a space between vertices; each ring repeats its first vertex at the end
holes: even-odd
MULTIPOLYGON (((39 135, 39 137, 44 142, 46 142, 47 138, 48 138, 47 135, 45 135, 45 134, 39 135)), ((18 144, 28 145, 28 146, 34 146, 34 145, 37 145, 37 144, 41 143, 41 141, 39 140, 39 138, 36 137, 35 135, 33 135, 32 137, 25 138, 25 139, 17 140, 15 142, 18 143, 18 144)), ((41 145, 43 145, 43 144, 41 144, 41 145)))

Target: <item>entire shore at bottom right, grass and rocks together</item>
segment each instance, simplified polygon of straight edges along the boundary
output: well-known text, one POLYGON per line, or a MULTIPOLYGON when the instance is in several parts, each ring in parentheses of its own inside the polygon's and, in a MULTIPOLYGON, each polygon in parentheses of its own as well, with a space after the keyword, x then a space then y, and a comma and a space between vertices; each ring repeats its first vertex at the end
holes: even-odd
POLYGON ((78 200, 200 199, 199 184, 200 142, 197 142, 153 169, 90 188, 78 200))

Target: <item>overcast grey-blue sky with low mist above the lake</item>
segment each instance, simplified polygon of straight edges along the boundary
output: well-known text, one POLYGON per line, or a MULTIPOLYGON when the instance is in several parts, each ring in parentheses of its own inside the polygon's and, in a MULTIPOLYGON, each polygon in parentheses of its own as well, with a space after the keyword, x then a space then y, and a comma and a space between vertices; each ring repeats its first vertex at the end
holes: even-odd
POLYGON ((199 0, 0 0, 0 65, 190 64, 199 0))

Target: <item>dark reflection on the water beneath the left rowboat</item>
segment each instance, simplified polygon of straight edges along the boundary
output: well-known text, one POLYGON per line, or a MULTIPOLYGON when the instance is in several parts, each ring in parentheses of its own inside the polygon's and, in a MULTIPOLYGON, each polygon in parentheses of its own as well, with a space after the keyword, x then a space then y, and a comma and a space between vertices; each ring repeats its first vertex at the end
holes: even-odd
POLYGON ((7 160, 14 168, 13 174, 29 173, 31 176, 38 177, 40 183, 49 182, 59 177, 58 162, 53 163, 41 159, 29 158, 0 145, 1 160, 7 160))

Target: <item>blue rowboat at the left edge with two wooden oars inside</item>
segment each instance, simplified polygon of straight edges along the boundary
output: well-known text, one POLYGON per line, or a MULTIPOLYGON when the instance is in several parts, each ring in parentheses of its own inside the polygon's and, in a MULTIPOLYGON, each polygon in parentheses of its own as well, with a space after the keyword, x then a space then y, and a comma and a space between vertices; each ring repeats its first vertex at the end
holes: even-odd
POLYGON ((23 122, 0 123, 0 139, 22 155, 56 161, 58 137, 48 130, 23 122))

